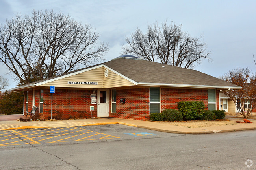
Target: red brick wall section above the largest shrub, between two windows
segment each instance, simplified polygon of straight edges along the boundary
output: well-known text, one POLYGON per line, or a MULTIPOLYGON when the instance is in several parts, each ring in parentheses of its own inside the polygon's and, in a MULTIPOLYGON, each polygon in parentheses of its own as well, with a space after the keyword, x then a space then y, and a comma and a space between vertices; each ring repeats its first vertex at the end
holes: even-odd
POLYGON ((208 108, 208 90, 161 88, 161 112, 177 109, 180 101, 202 101, 208 108))

